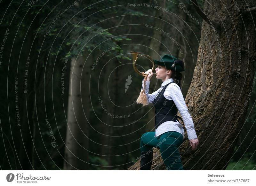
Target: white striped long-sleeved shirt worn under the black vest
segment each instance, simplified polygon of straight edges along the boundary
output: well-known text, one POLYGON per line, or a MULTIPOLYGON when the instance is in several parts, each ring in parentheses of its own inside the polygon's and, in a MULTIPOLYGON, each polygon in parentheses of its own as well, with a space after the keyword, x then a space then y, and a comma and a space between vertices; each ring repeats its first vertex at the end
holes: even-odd
MULTIPOLYGON (((149 88, 150 81, 145 81, 145 94, 147 96, 148 103, 153 104, 155 97, 164 88, 164 85, 167 85, 168 83, 173 82, 173 81, 174 80, 172 78, 165 80, 161 84, 161 88, 159 88, 152 94, 148 94, 148 88, 149 88)), ((144 86, 144 80, 142 80, 141 90, 143 89, 143 86, 144 86)), ((164 91, 164 97, 168 100, 173 100, 173 102, 175 103, 178 111, 180 112, 180 115, 182 116, 184 125, 187 129, 188 139, 191 140, 191 139, 197 138, 196 131, 194 128, 194 123, 193 123, 193 120, 188 112, 188 108, 186 106, 185 100, 181 93, 180 87, 176 83, 169 84, 164 91)), ((168 132, 168 131, 179 132, 184 137, 183 126, 178 121, 177 122, 165 121, 164 123, 159 125, 158 128, 156 129, 155 137, 160 136, 161 134, 168 132)))

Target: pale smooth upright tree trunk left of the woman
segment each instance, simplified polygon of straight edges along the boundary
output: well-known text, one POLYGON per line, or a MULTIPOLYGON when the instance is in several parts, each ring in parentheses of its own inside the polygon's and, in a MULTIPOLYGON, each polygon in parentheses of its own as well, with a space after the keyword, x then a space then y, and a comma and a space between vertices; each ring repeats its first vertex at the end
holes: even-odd
MULTIPOLYGON (((65 170, 86 170, 88 169, 88 100, 89 78, 86 71, 89 67, 83 66, 84 57, 77 57, 71 60, 70 82, 68 95, 68 125, 65 148, 65 170), (85 77, 86 76, 86 77, 85 77), (87 100, 87 101, 86 101, 87 100)), ((86 64, 86 63, 85 63, 86 64)))

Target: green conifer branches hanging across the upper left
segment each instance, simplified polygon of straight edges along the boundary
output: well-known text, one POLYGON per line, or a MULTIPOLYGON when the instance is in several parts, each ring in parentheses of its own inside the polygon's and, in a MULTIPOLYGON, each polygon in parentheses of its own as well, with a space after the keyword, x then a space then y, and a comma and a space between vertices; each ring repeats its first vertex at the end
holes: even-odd
MULTIPOLYGON (((93 1, 91 3, 90 1, 79 2, 79 5, 76 4, 67 9, 74 2, 64 0, 58 4, 58 2, 49 1, 45 6, 45 2, 37 1, 32 7, 26 3, 20 5, 13 2, 11 9, 9 8, 11 12, 4 16, 3 23, 7 26, 12 21, 12 24, 16 24, 17 27, 21 25, 20 29, 24 29, 24 31, 28 30, 29 26, 30 29, 34 29, 32 32, 37 41, 35 50, 40 51, 41 55, 50 55, 48 63, 54 63, 56 57, 63 60, 63 56, 82 56, 85 50, 89 52, 104 51, 111 46, 118 46, 118 48, 111 50, 108 56, 122 56, 123 50, 119 43, 129 38, 115 36, 108 29, 102 27, 112 24, 111 20, 103 21, 107 14, 113 14, 115 10, 116 12, 127 12, 127 9, 118 6, 120 5, 118 1, 96 4, 93 1), (57 4, 58 6, 56 6, 57 4), (48 7, 55 8, 49 9, 48 7), (28 8, 30 8, 29 15, 33 15, 33 17, 23 19, 28 8), (13 19, 13 15, 15 15, 15 19, 13 19), (20 21, 22 19, 23 22, 20 21), (99 20, 102 21, 99 22, 99 20), (30 25, 31 22, 33 22, 33 27, 30 25)), ((7 8, 8 4, 5 6, 7 8)), ((43 58, 39 58, 38 62, 44 66, 43 58)))

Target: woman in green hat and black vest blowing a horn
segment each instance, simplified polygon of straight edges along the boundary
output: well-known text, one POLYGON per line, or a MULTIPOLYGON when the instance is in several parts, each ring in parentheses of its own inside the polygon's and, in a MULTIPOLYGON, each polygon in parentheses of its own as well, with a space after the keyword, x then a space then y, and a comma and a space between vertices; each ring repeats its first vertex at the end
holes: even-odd
MULTIPOLYGON (((150 78, 153 76, 151 69, 145 72, 148 77, 145 82, 145 94, 148 103, 152 103, 156 109, 155 132, 147 132, 141 136, 140 150, 141 161, 140 170, 150 170, 153 158, 153 149, 160 149, 161 156, 167 170, 184 170, 179 146, 183 143, 183 126, 176 120, 179 111, 188 133, 188 139, 192 150, 196 150, 199 141, 196 136, 194 123, 188 108, 185 104, 180 90, 180 81, 184 71, 184 62, 171 56, 164 55, 159 61, 154 59, 156 68, 156 78, 163 83, 161 88, 152 94, 148 94, 150 78)), ((144 81, 144 80, 143 80, 144 81)), ((142 81, 142 89, 143 89, 142 81)))

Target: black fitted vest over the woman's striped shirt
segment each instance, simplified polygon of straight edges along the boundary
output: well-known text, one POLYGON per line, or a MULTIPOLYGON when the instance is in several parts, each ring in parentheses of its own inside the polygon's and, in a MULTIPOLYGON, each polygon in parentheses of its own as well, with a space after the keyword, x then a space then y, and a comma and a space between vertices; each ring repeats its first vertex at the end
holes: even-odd
MULTIPOLYGON (((156 108, 156 117, 155 117, 155 128, 165 121, 176 121, 178 109, 174 104, 173 100, 166 99, 164 97, 164 91, 166 87, 175 82, 170 82, 164 86, 164 88, 158 93, 154 99, 154 106, 156 108)), ((179 117, 180 118, 180 117, 179 117)))

